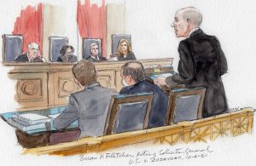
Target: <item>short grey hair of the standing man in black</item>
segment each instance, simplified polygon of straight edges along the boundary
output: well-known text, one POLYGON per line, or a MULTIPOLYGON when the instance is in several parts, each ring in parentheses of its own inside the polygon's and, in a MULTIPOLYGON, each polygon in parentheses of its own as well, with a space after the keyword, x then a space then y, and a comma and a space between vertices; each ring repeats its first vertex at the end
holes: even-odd
POLYGON ((179 14, 183 14, 183 19, 190 20, 192 24, 196 27, 199 27, 201 25, 202 15, 199 9, 196 9, 194 7, 183 8, 177 10, 176 15, 179 14))

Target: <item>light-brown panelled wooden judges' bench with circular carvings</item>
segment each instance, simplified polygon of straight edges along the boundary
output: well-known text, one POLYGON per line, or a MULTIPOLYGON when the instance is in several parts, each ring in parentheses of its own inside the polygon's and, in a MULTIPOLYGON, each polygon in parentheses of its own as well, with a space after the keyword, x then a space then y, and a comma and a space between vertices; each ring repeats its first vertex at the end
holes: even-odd
MULTIPOLYGON (((171 66, 172 58, 139 60, 145 68, 171 66)), ((122 89, 120 69, 127 61, 95 63, 97 81, 103 87, 122 89)), ((9 77, 17 80, 15 99, 20 103, 19 110, 34 110, 67 105, 67 97, 81 90, 74 82, 72 63, 4 63, 14 66, 9 77)))

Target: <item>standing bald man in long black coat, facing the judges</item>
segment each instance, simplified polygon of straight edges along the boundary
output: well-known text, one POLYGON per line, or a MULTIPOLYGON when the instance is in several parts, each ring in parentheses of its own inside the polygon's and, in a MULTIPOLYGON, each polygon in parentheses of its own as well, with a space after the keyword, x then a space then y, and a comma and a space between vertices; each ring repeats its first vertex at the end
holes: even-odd
POLYGON ((202 15, 193 7, 179 9, 172 27, 176 37, 186 37, 179 43, 178 74, 154 83, 173 87, 184 84, 186 88, 205 87, 207 89, 203 117, 228 112, 227 100, 221 76, 227 72, 227 60, 218 38, 205 34, 199 26, 202 15))

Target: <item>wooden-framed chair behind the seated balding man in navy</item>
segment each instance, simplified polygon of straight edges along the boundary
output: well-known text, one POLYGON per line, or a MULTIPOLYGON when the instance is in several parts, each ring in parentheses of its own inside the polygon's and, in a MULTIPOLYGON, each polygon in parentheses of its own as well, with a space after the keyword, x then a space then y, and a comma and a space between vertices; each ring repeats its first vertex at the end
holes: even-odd
POLYGON ((104 135, 147 129, 152 98, 152 93, 113 96, 104 135))

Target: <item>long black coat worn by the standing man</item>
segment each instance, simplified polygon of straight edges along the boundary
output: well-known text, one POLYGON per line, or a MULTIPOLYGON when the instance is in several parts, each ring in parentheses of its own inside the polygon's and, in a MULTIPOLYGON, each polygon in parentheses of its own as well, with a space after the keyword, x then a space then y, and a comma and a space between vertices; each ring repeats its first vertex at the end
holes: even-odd
POLYGON ((167 77, 166 83, 184 83, 187 88, 206 87, 203 117, 227 112, 228 105, 221 76, 227 72, 227 60, 218 38, 201 29, 181 41, 178 47, 178 73, 167 77))

